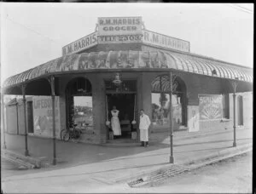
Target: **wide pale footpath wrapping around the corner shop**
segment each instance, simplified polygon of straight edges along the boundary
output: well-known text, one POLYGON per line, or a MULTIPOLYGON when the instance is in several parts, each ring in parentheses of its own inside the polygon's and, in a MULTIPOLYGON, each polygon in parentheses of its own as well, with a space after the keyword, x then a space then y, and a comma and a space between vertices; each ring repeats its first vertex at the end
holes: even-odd
MULTIPOLYGON (((168 133, 154 134, 149 147, 101 146, 57 141, 56 166, 30 169, 22 175, 2 177, 6 192, 86 192, 89 188, 136 180, 157 170, 170 168, 168 133), (165 138, 164 138, 165 137, 165 138), (32 185, 26 187, 24 185, 32 185), (41 190, 42 189, 42 190, 41 190)), ((195 165, 209 158, 224 157, 252 148, 253 130, 237 129, 212 134, 174 136, 174 163, 195 165)), ((24 153, 24 136, 8 135, 9 150, 24 153)), ((50 162, 52 140, 29 137, 31 157, 50 162)))

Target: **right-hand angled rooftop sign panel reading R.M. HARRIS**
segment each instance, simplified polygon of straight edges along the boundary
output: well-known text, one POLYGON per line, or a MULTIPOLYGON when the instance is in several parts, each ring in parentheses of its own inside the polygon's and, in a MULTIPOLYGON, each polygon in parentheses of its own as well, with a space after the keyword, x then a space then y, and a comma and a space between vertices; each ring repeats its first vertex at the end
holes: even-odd
POLYGON ((189 52, 190 50, 188 41, 183 41, 175 37, 168 37, 153 31, 143 30, 143 43, 185 52, 189 52))

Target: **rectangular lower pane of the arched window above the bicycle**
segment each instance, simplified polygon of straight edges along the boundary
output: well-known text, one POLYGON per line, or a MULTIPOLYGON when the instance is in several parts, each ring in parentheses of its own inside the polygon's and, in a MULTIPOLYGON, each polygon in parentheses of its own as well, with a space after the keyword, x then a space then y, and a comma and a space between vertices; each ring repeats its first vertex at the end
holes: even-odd
POLYGON ((74 123, 85 128, 93 125, 92 96, 74 96, 74 123))

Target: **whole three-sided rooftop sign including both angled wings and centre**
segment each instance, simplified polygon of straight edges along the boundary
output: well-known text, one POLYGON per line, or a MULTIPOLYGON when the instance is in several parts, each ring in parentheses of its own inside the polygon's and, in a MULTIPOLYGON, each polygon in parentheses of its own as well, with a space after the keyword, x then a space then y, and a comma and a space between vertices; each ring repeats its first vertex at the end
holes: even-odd
POLYGON ((143 29, 142 17, 98 18, 97 28, 96 32, 64 46, 62 55, 79 53, 96 44, 108 43, 145 43, 190 52, 188 41, 143 29))

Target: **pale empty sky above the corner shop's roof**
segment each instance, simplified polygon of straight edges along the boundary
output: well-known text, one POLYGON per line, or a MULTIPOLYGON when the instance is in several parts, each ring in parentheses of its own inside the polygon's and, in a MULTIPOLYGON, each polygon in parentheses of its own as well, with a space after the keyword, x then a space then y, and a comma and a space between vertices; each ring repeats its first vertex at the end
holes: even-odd
POLYGON ((1 3, 3 82, 61 56, 97 17, 142 16, 146 29, 189 41, 190 52, 253 68, 253 3, 1 3), (241 8, 241 7, 245 8, 241 8))

